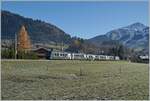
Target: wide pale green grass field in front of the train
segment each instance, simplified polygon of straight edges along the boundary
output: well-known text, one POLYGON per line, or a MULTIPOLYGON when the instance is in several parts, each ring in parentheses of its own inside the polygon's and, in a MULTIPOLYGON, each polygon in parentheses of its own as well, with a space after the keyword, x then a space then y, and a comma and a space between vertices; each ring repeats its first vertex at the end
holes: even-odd
POLYGON ((148 64, 2 61, 1 67, 2 99, 148 99, 148 64))

